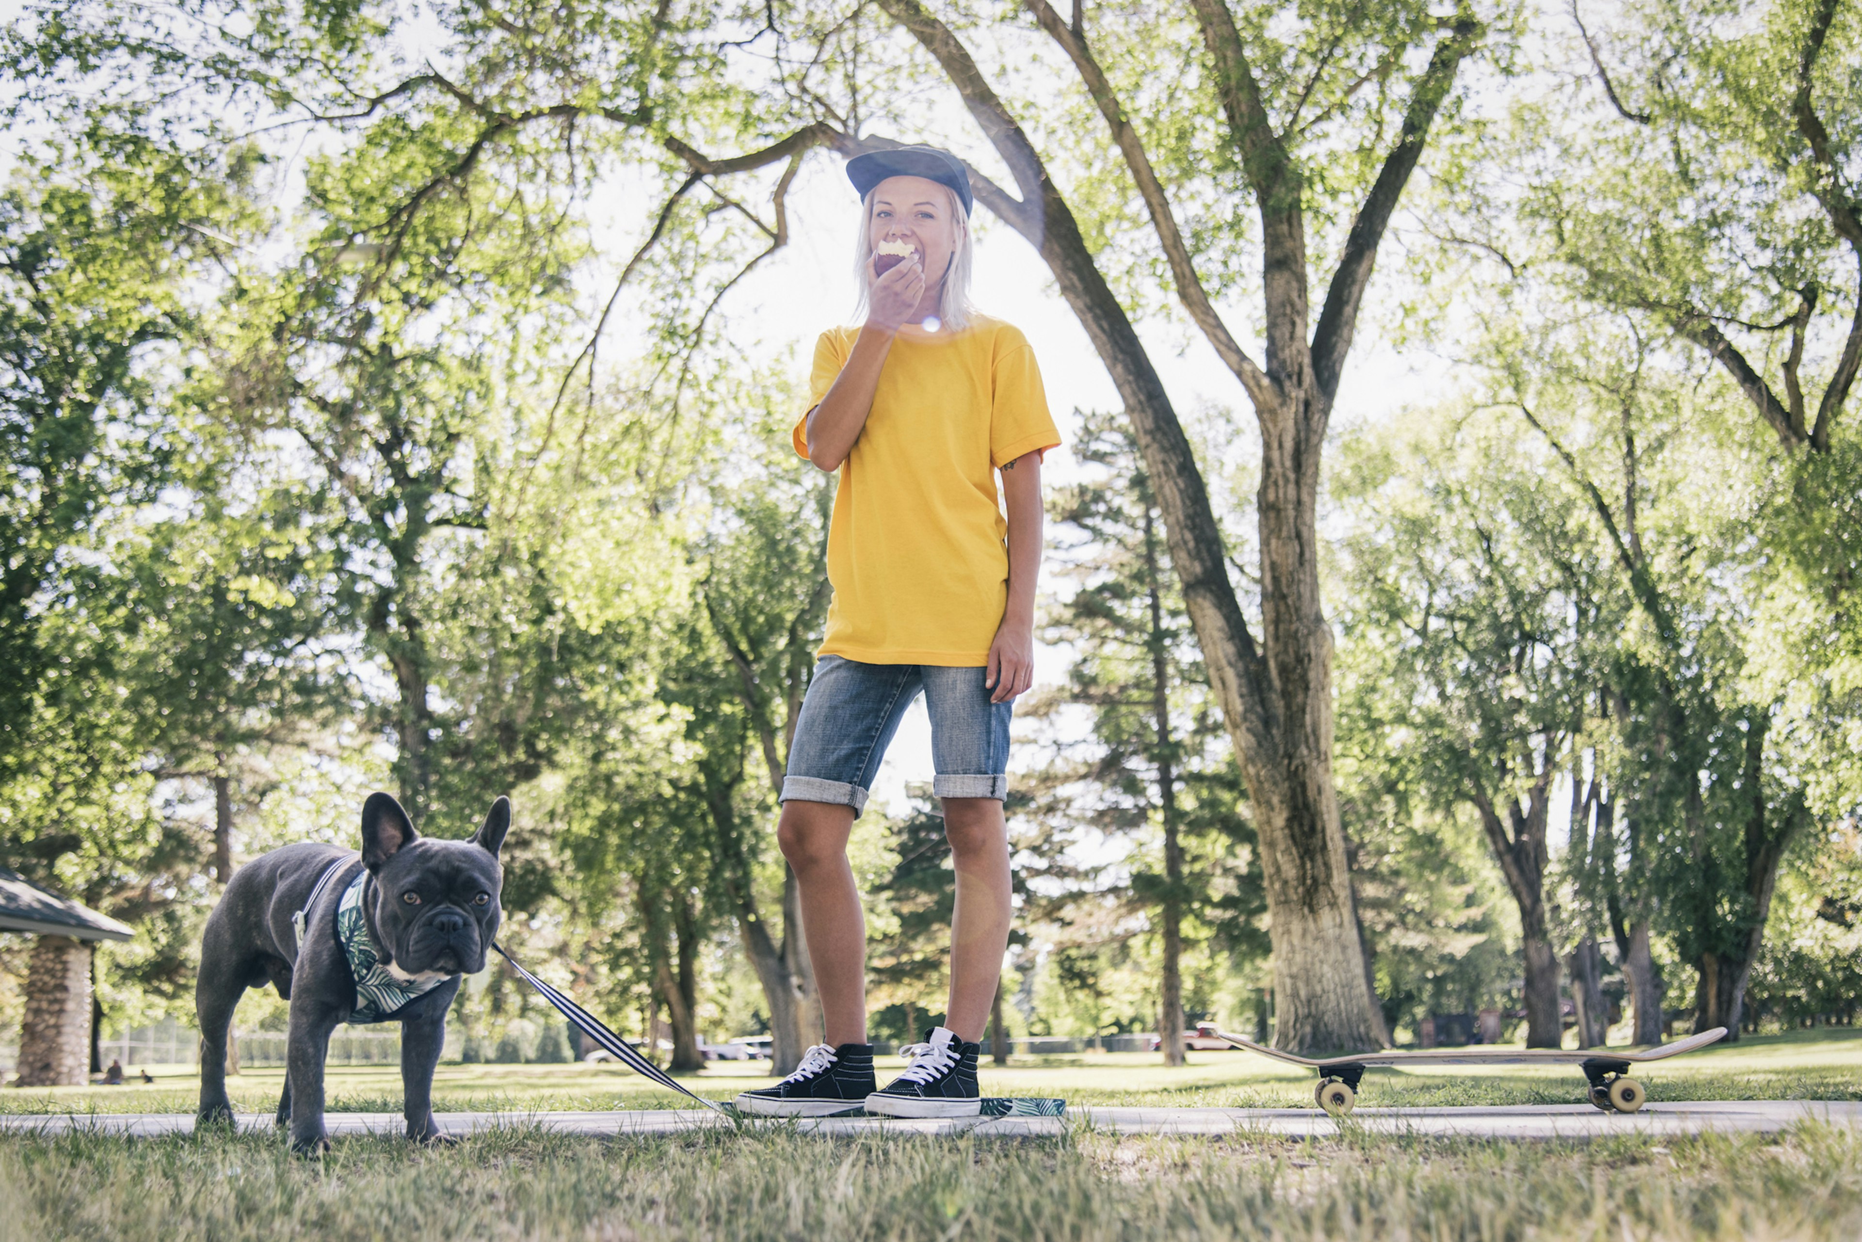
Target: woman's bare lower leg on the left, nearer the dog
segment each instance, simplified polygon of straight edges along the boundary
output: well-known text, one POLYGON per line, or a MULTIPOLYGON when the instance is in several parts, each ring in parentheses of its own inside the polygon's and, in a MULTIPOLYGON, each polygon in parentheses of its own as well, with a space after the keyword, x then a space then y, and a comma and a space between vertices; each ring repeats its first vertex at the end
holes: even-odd
MULTIPOLYGON (((784 803, 776 844, 795 868, 827 1043, 866 1043, 866 914, 847 864, 853 806, 784 803)), ((1002 952, 996 952, 1002 957, 1002 952)))

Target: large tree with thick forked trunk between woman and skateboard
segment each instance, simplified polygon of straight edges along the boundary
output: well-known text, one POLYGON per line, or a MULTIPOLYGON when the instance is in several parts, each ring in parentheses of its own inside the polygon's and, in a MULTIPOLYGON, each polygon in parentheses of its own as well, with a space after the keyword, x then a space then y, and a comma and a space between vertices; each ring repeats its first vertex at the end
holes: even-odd
MULTIPOLYGON (((1264 4, 1238 19, 1221 0, 1197 0, 1188 15, 1097 15, 1089 32, 1084 7, 1069 22, 1045 0, 1028 0, 1030 15, 1065 52, 1080 91, 1104 119, 1130 177, 1100 181, 1095 190, 1121 205, 1141 203, 1156 242, 1145 257, 1162 253, 1179 300, 1255 410, 1262 447, 1257 639, 1231 581, 1223 533, 1190 439, 1130 311, 1108 283, 1028 127, 957 32, 927 6, 881 0, 881 7, 931 54, 1009 168, 1020 197, 972 169, 978 199, 1041 251, 1132 419, 1248 780, 1274 924, 1275 1039, 1300 1050, 1376 1046, 1385 1032, 1365 978, 1331 773, 1331 633, 1320 600, 1315 516, 1320 456, 1385 227, 1482 24, 1467 7, 1439 19, 1421 4, 1395 6, 1367 22, 1357 6, 1292 13, 1264 4), (1203 52, 1177 54, 1182 34, 1199 37, 1203 52), (1095 39, 1110 50, 1117 76, 1106 71, 1108 50, 1095 50, 1095 39), (1398 65, 1424 58, 1408 76, 1408 99, 1400 99, 1398 65), (1173 89, 1153 101, 1147 86, 1160 80, 1173 89), (1357 99, 1372 82, 1372 99, 1357 99), (1147 117, 1128 99, 1156 102, 1156 110, 1147 117), (1208 117, 1214 140, 1177 142, 1182 99, 1194 99, 1197 115, 1208 117), (1354 153, 1350 173, 1315 175, 1328 143, 1354 153), (1162 175, 1151 149, 1166 151, 1173 164, 1162 175), (1167 188, 1167 181, 1177 184, 1167 188), (1242 231, 1212 223, 1207 240, 1186 238, 1171 190, 1214 196, 1225 207, 1238 207, 1242 194, 1251 199, 1261 229, 1264 363, 1240 346, 1208 292, 1212 285, 1218 296, 1223 292, 1223 276, 1244 246, 1242 231), (1361 196, 1356 207, 1354 196, 1361 196), (1337 264, 1313 326, 1307 231, 1322 231, 1328 212, 1350 216, 1352 223, 1337 240, 1337 264)), ((1059 128, 1069 145, 1084 132, 1076 117, 1059 128)), ((884 143, 868 138, 864 145, 884 143)))

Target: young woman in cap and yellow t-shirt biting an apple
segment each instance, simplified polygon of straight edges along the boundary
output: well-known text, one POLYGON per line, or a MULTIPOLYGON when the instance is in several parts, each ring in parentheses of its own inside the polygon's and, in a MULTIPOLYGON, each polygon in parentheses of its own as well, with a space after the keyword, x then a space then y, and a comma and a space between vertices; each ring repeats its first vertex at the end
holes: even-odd
POLYGON ((1028 341, 970 309, 963 164, 905 147, 849 160, 847 177, 864 205, 866 322, 821 335, 808 413, 795 425, 795 451, 840 471, 840 488, 827 544, 834 601, 776 829, 801 886, 827 1043, 737 1106, 974 1115, 978 1041, 1009 937, 1002 799, 1009 711, 1033 680, 1041 454, 1059 436, 1028 341), (909 1048, 911 1067, 875 1089, 866 920, 847 836, 920 691, 957 873, 950 1004, 946 1026, 909 1048))

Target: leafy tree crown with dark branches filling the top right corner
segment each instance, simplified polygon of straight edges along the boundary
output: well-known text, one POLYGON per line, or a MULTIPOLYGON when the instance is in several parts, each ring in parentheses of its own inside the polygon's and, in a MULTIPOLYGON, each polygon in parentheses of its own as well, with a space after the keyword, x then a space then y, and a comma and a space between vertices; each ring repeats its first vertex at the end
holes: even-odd
POLYGON ((1700 350, 1780 445, 1812 454, 1862 367, 1862 30, 1840 9, 1644 0, 1605 30, 1573 6, 1581 73, 1534 117, 1553 158, 1532 162, 1549 177, 1521 212, 1551 227, 1573 290, 1700 350))

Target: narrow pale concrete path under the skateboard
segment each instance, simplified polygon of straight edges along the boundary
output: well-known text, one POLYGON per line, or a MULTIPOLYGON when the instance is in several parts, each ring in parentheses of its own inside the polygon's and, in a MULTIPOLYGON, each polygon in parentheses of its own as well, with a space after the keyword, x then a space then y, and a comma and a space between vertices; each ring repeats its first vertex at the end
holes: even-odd
MULTIPOLYGON (((635 1112, 534 1112, 534 1114, 438 1114, 449 1134, 475 1134, 501 1127, 538 1127, 557 1134, 616 1138, 627 1134, 680 1134, 708 1127, 730 1127, 717 1114, 681 1110, 635 1112)), ((1646 1134, 1745 1132, 1771 1134, 1801 1121, 1823 1121, 1862 1128, 1862 1102, 1823 1100, 1711 1100, 1691 1104, 1646 1104, 1642 1112, 1603 1114, 1588 1104, 1544 1104, 1508 1108, 1359 1108, 1344 1127, 1372 1134, 1430 1134, 1456 1138, 1605 1138, 1646 1134)), ((240 1130, 270 1134, 268 1115, 248 1114, 240 1130)), ((328 1114, 330 1134, 400 1134, 398 1114, 328 1114)), ((1283 1134, 1324 1138, 1341 1123, 1313 1108, 1071 1108, 1065 1117, 961 1117, 944 1121, 897 1121, 883 1117, 823 1117, 814 1121, 750 1119, 749 1127, 795 1125, 804 1134, 978 1134, 989 1138, 1058 1138, 1069 1128, 1100 1134, 1283 1134)), ((0 1134, 190 1134, 194 1117, 186 1114, 52 1114, 0 1117, 0 1134)))

